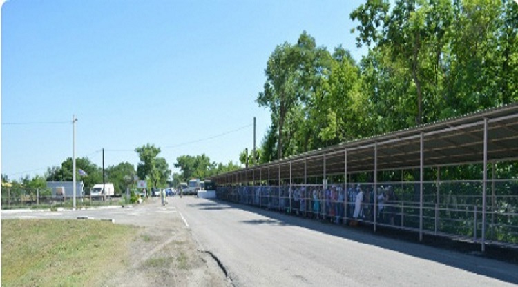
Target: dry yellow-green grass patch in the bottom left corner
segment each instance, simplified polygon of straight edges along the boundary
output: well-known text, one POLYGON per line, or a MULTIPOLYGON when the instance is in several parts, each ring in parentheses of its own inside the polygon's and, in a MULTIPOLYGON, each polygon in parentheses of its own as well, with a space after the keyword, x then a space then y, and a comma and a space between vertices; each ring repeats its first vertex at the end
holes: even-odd
POLYGON ((131 226, 93 220, 1 221, 2 286, 102 286, 129 264, 131 226))

